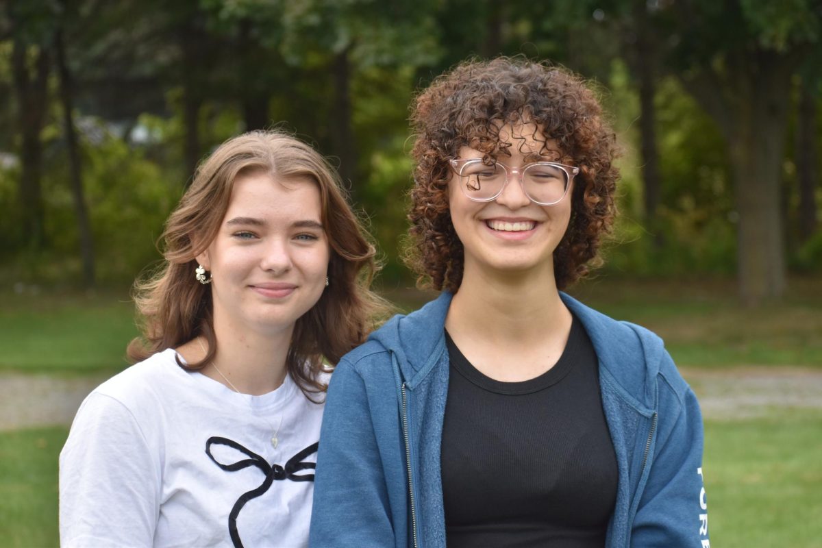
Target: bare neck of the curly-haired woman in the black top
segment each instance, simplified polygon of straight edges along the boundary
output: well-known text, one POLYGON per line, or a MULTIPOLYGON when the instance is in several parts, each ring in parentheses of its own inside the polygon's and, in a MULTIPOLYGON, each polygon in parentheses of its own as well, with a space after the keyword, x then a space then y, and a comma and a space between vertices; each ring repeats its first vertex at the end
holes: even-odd
POLYGON ((452 337, 503 347, 543 342, 553 326, 568 325, 570 311, 556 289, 552 265, 510 273, 466 263, 446 318, 452 337))

